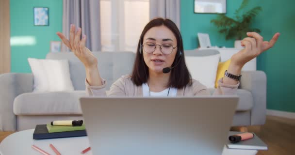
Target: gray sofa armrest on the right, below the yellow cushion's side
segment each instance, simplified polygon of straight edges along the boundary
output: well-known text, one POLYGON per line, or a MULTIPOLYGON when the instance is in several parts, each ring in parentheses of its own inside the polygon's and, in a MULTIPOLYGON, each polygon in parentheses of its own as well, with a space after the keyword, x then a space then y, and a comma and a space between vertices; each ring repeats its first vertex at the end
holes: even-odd
POLYGON ((262 125, 266 118, 266 75, 263 71, 242 71, 240 88, 253 95, 251 125, 262 125))

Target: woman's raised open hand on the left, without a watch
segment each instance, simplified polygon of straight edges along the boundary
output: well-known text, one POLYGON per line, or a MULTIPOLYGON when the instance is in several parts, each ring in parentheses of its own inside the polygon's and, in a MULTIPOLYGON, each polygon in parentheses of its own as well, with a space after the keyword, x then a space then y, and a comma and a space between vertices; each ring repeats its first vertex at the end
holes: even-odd
POLYGON ((86 35, 84 34, 81 38, 82 29, 76 27, 74 24, 71 24, 70 28, 70 40, 68 40, 65 35, 61 32, 56 34, 62 39, 63 43, 68 47, 78 59, 84 64, 85 68, 96 68, 98 65, 97 58, 91 53, 91 51, 85 47, 86 45, 86 35))

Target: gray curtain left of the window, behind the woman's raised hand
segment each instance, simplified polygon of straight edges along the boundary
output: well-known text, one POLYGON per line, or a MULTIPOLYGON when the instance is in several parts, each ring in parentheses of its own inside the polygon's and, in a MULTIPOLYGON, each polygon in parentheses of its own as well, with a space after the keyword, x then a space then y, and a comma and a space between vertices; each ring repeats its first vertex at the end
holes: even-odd
MULTIPOLYGON (((69 38, 70 25, 82 28, 86 34, 86 47, 91 51, 100 51, 100 7, 99 0, 64 0, 63 34, 69 38)), ((69 51, 63 45, 62 51, 69 51)))

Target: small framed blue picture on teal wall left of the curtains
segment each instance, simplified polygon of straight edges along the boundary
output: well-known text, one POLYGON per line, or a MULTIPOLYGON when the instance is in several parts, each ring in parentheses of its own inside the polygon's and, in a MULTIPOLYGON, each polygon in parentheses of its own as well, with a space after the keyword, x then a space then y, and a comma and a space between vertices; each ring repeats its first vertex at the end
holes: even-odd
POLYGON ((49 8, 34 7, 34 26, 49 26, 49 8))

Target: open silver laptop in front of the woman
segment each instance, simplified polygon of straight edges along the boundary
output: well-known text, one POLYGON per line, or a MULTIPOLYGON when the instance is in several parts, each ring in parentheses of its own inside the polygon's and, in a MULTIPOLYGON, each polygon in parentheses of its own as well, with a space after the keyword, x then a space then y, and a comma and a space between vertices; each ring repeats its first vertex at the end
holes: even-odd
POLYGON ((82 97, 93 155, 221 155, 236 96, 82 97))

